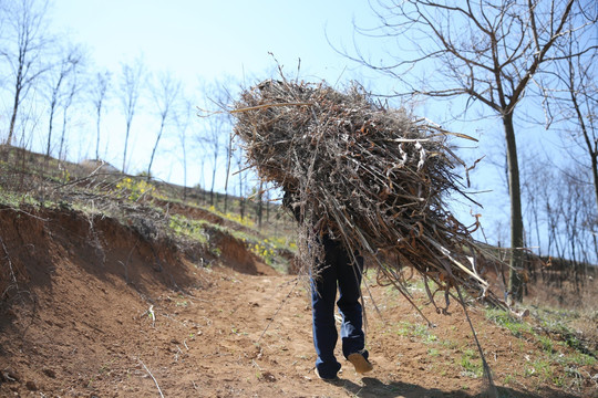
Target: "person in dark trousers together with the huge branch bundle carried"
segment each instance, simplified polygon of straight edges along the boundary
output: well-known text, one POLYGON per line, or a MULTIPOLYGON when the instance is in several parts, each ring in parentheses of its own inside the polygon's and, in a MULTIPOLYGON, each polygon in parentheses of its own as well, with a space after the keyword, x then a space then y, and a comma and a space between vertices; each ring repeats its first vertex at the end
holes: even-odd
MULTIPOLYGON (((357 371, 372 369, 359 300, 361 254, 368 253, 379 277, 396 286, 423 318, 401 287, 402 270, 423 276, 439 312, 446 313, 451 289, 466 308, 460 287, 508 310, 482 274, 495 259, 472 235, 478 216, 466 227, 447 206, 455 193, 477 206, 466 192, 473 166, 466 167, 452 143, 475 138, 447 132, 406 108, 389 107, 359 84, 338 91, 326 82, 283 76, 244 91, 231 114, 248 165, 262 181, 291 193, 295 198, 287 195, 286 201, 301 216, 298 254, 309 264, 320 377, 334 379, 341 368, 334 358, 336 304, 342 315, 343 355, 357 371), (456 172, 458 165, 465 167, 466 184, 456 172), (384 256, 377 256, 378 248, 384 256), (444 306, 434 300, 429 282, 435 292, 445 292, 444 306)), ((485 370, 489 375, 487 364, 485 370)))

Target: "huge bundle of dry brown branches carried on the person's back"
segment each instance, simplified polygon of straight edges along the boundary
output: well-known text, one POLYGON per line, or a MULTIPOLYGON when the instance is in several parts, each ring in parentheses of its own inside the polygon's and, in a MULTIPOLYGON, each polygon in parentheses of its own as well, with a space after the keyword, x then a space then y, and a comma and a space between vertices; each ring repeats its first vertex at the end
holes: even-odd
POLYGON ((417 271, 437 311, 446 311, 453 286, 503 306, 480 272, 476 223, 466 228, 444 202, 451 192, 465 196, 454 171, 465 165, 447 144, 463 135, 377 104, 358 85, 341 93, 324 83, 265 81, 241 94, 233 114, 249 165, 295 198, 300 241, 311 248, 300 250, 301 260, 318 258, 309 240, 328 233, 348 252, 370 254, 403 294, 403 268, 417 271))

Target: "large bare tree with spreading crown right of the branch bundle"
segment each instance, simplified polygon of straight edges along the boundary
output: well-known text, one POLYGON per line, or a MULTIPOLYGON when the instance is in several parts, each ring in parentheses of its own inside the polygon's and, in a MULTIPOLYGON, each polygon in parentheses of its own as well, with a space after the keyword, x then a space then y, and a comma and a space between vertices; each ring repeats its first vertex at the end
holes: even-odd
MULTIPOLYGON (((436 98, 463 96, 464 112, 482 104, 503 122, 507 148, 511 197, 509 293, 523 296, 524 226, 515 109, 530 90, 535 74, 557 56, 555 43, 587 21, 575 0, 378 0, 372 7, 381 25, 363 34, 385 36, 394 44, 410 43, 411 51, 395 54, 388 63, 373 63, 357 49, 353 60, 385 72, 406 85, 403 94, 436 98), (570 28, 570 21, 582 20, 570 28), (416 73, 421 80, 414 83, 416 73)), ((560 56, 560 54, 559 54, 560 56)))

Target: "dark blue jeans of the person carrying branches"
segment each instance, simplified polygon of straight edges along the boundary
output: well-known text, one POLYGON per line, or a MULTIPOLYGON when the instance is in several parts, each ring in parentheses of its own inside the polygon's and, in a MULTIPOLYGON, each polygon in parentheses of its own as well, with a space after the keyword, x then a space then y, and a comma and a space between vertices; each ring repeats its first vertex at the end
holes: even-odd
POLYGON ((313 345, 316 346, 316 367, 323 378, 333 378, 341 365, 334 357, 338 332, 334 325, 334 300, 337 285, 339 300, 337 305, 342 316, 341 341, 342 354, 362 352, 368 358, 364 347, 361 296, 361 273, 363 258, 357 256, 354 266, 342 244, 328 235, 322 239, 324 261, 316 264, 316 275, 311 275, 311 308, 313 317, 313 345))

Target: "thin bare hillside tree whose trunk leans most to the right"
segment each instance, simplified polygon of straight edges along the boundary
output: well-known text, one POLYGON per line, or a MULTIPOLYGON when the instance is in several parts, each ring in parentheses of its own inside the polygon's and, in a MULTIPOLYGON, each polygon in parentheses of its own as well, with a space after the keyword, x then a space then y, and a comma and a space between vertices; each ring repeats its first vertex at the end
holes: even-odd
POLYGON ((156 155, 159 139, 164 133, 164 127, 173 116, 173 106, 177 101, 179 93, 181 82, 175 80, 169 72, 161 73, 157 77, 157 82, 155 82, 152 86, 152 97, 159 116, 159 130, 156 136, 154 147, 152 148, 152 156, 150 157, 150 165, 147 166, 147 178, 152 177, 152 164, 154 163, 154 156, 156 155))

